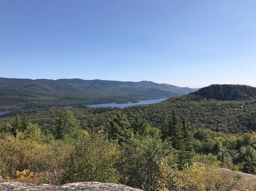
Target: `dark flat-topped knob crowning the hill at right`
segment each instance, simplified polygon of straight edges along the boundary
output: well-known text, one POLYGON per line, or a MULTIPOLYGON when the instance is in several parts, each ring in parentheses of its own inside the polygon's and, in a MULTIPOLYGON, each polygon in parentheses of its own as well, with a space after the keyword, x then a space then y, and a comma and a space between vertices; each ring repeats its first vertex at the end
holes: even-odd
POLYGON ((256 88, 246 85, 213 84, 192 93, 207 99, 246 100, 256 96, 256 88))

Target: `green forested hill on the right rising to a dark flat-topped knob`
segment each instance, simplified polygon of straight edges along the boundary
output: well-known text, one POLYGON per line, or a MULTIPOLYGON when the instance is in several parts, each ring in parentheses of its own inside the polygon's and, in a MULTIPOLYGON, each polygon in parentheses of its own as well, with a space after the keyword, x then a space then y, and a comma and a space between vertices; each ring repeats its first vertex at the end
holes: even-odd
POLYGON ((190 128, 209 128, 222 132, 250 132, 256 130, 256 91, 254 87, 224 85, 218 92, 212 85, 188 95, 169 98, 150 105, 127 107, 124 112, 128 117, 143 116, 152 126, 159 126, 175 110, 186 119, 190 128), (241 91, 236 91, 239 89, 241 91), (225 96, 234 100, 222 100, 225 96), (218 99, 214 99, 218 98, 218 99))

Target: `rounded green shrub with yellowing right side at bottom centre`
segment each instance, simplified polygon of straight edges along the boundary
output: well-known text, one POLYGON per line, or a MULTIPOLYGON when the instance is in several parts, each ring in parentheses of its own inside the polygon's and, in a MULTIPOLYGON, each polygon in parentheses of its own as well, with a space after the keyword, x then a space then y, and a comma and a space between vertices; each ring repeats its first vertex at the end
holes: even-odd
POLYGON ((162 190, 176 187, 173 169, 177 155, 169 141, 149 136, 132 139, 123 146, 117 169, 119 181, 143 190, 162 190))

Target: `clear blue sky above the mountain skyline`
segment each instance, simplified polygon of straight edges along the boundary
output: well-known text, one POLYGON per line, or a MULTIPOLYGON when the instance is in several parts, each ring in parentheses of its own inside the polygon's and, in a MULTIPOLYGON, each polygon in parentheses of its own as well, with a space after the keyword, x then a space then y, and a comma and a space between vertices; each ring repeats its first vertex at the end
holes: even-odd
POLYGON ((0 77, 256 86, 255 10, 255 0, 0 0, 0 77))

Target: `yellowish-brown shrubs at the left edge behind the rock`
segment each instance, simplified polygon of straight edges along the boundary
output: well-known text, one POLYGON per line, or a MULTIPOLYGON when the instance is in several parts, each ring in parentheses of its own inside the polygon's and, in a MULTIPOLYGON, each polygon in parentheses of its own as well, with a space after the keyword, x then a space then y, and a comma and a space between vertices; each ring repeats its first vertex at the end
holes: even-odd
POLYGON ((30 183, 58 184, 64 161, 72 147, 72 144, 65 145, 63 141, 40 145, 32 139, 20 140, 0 134, 0 173, 30 183), (17 172, 22 175, 20 172, 27 171, 33 176, 17 176, 17 172))

